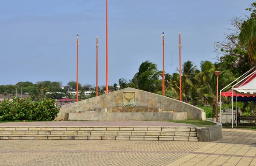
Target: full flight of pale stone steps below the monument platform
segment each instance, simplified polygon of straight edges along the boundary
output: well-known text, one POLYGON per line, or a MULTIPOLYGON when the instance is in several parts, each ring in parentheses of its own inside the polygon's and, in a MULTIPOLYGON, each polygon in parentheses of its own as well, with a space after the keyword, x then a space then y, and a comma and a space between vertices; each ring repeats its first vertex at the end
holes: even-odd
POLYGON ((195 127, 0 127, 0 140, 198 141, 195 127))

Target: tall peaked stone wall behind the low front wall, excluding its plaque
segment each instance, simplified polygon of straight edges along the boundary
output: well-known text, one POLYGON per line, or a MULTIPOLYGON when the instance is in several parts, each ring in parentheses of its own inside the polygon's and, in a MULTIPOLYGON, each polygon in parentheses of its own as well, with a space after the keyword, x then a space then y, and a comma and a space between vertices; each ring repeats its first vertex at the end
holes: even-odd
MULTIPOLYGON (((101 95, 87 100, 79 101, 73 104, 61 107, 60 113, 55 120, 67 119, 65 113, 184 113, 188 119, 202 119, 204 110, 178 101, 169 97, 157 95, 154 93, 137 90, 134 88, 125 88, 112 93, 101 95), (135 92, 135 106, 123 106, 123 92, 135 92)), ((70 114, 71 115, 71 114, 70 114)), ((75 115, 75 114, 74 114, 75 115)), ((96 114, 95 114, 96 115, 96 114)), ((134 114, 135 115, 135 114, 134 114)), ((139 114, 138 114, 139 115, 139 114)), ((84 119, 86 120, 86 118, 84 119)), ((171 119, 170 119, 171 120, 171 119)))

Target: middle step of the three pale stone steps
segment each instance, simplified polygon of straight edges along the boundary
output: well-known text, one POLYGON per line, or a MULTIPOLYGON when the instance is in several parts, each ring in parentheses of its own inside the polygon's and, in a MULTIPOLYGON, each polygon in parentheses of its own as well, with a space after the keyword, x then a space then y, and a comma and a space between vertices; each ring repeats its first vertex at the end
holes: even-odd
POLYGON ((187 131, 100 131, 100 130, 3 130, 0 135, 139 135, 139 136, 187 136, 196 137, 196 132, 187 131))

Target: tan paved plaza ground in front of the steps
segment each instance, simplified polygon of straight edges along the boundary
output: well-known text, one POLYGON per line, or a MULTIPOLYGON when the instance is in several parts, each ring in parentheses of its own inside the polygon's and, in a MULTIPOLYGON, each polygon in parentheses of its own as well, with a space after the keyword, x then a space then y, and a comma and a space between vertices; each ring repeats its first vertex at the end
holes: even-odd
POLYGON ((256 131, 214 142, 0 140, 0 166, 256 166, 256 131))

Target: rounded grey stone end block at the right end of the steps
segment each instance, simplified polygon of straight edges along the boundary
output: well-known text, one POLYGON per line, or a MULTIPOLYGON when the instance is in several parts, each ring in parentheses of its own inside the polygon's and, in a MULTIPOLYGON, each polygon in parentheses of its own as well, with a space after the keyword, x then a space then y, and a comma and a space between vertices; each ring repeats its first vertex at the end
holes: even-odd
POLYGON ((198 141, 215 141, 222 138, 222 124, 213 123, 215 125, 211 127, 196 127, 198 141))

